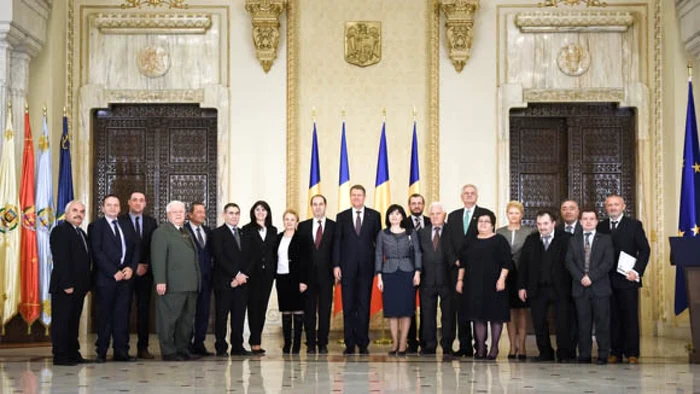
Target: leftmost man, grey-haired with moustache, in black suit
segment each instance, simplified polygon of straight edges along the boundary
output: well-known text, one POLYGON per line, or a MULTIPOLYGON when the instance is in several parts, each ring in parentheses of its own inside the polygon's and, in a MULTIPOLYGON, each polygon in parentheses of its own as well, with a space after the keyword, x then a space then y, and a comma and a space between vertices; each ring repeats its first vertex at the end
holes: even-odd
POLYGON ((80 228, 85 205, 71 201, 65 209, 66 220, 50 235, 51 270, 51 344, 54 365, 87 362, 80 355, 78 328, 85 294, 90 291, 90 252, 87 235, 80 228))

